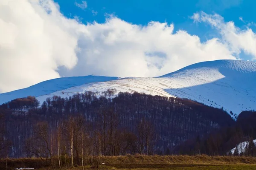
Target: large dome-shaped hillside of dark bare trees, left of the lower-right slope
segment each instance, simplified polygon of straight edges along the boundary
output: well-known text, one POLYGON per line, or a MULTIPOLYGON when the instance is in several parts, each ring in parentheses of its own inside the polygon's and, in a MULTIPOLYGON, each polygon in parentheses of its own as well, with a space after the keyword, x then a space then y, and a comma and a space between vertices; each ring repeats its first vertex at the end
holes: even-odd
MULTIPOLYGON (((188 139, 235 123, 222 109, 188 99, 139 93, 116 94, 115 89, 103 94, 99 98, 90 91, 65 99, 53 96, 41 107, 31 96, 1 105, 1 114, 6 122, 5 140, 12 142, 9 156, 38 154, 31 152, 31 146, 28 146, 38 143, 38 140, 43 140, 43 143, 47 141, 49 148, 56 149, 58 129, 62 129, 61 139, 66 139, 61 140, 67 146, 62 151, 68 154, 71 150, 68 128, 71 127, 79 133, 81 131, 84 140, 95 141, 94 138, 98 136, 103 155, 170 153, 174 147, 188 139), (107 99, 106 96, 113 98, 107 99), (43 139, 42 136, 38 137, 42 129, 43 139)), ((75 137, 81 140, 81 136, 75 137)), ((75 147, 72 153, 81 155, 81 144, 78 146, 74 142, 72 146, 75 147)), ((56 154, 55 149, 50 149, 51 155, 56 154)), ((44 153, 44 156, 47 155, 49 153, 44 153)))

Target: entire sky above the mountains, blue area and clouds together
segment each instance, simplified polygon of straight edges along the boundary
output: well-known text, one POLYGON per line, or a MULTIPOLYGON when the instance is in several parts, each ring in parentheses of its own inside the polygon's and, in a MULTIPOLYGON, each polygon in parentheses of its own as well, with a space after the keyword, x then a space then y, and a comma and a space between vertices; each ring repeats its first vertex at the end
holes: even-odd
POLYGON ((0 93, 256 59, 255 0, 0 0, 0 93))

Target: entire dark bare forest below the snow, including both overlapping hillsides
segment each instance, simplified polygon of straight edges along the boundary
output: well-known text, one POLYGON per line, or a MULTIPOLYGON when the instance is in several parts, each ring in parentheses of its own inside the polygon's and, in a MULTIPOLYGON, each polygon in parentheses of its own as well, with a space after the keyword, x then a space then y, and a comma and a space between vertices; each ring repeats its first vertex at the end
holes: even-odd
POLYGON ((226 155, 256 136, 252 111, 235 121, 222 109, 189 99, 114 89, 99 98, 90 91, 53 96, 42 105, 28 96, 1 105, 0 115, 1 157, 49 162, 57 155, 74 157, 76 164, 83 155, 99 154, 226 155))

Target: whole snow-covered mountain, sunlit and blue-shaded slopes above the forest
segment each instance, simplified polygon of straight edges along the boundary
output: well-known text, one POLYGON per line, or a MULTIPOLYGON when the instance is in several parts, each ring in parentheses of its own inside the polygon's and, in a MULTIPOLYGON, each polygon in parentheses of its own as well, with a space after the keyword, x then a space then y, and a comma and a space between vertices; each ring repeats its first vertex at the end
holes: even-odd
POLYGON ((110 81, 107 81, 107 77, 104 77, 105 81, 98 77, 99 79, 93 82, 96 78, 92 77, 90 81, 84 79, 84 82, 79 83, 74 77, 65 78, 66 81, 73 84, 69 86, 66 85, 67 83, 62 83, 60 88, 56 88, 58 86, 56 84, 61 84, 58 80, 64 78, 55 79, 54 84, 50 82, 52 80, 49 80, 47 91, 43 90, 45 83, 42 82, 34 85, 33 88, 34 91, 41 91, 40 93, 21 89, 0 94, 0 103, 28 95, 38 96, 37 99, 42 103, 47 97, 54 95, 67 97, 85 91, 102 92, 116 88, 117 93, 119 91, 137 91, 151 95, 188 98, 216 108, 223 107, 227 112, 232 111, 236 114, 244 110, 256 109, 256 62, 216 60, 189 65, 161 77, 127 77, 122 79, 110 77, 110 81))

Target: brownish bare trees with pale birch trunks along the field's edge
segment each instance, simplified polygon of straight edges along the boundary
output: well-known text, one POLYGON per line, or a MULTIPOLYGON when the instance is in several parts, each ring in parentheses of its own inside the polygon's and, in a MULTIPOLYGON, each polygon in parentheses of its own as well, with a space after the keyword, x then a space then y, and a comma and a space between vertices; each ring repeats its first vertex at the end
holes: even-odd
POLYGON ((100 115, 95 129, 82 115, 59 121, 54 130, 47 122, 38 122, 33 135, 25 141, 24 151, 26 157, 38 157, 45 165, 54 161, 56 164, 54 158, 58 158, 59 167, 74 167, 84 162, 98 166, 100 156, 153 154, 156 134, 150 122, 142 119, 136 127, 137 133, 118 127, 119 121, 111 111, 100 115))

